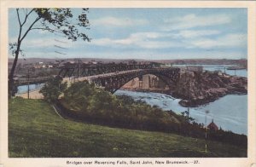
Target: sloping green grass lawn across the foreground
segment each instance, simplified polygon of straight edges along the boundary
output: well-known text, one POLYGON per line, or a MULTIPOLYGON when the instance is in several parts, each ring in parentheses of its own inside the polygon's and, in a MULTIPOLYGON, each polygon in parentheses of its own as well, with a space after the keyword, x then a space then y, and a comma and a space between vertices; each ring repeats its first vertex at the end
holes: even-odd
POLYGON ((9 157, 245 157, 247 150, 182 135, 60 118, 42 100, 9 101, 9 157))

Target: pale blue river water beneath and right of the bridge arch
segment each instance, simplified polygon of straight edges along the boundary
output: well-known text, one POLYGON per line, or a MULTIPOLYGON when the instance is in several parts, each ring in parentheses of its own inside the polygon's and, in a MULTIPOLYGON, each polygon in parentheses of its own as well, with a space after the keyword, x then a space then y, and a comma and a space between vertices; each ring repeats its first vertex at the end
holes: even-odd
MULTIPOLYGON (((204 66, 205 70, 215 71, 224 68, 220 66, 204 66)), ((226 70, 226 73, 235 75, 235 71, 226 70)), ((246 70, 237 70, 237 76, 247 77, 246 70)), ((117 90, 115 95, 129 95, 136 101, 145 101, 151 106, 158 106, 163 110, 176 113, 187 111, 187 107, 182 107, 178 104, 180 99, 173 98, 171 95, 164 95, 151 92, 135 92, 128 90, 117 90)), ((189 107, 189 115, 195 118, 195 122, 207 124, 213 122, 218 125, 218 128, 223 130, 231 130, 236 134, 247 135, 247 95, 225 95, 217 101, 208 103, 201 107, 189 107), (206 114, 206 111, 209 113, 206 114)))

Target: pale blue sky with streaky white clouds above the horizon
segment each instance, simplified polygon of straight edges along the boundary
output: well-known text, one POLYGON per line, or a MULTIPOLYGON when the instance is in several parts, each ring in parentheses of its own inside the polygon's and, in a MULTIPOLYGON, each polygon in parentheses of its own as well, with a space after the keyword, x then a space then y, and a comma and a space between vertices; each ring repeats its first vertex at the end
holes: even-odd
MULTIPOLYGON (((74 14, 79 11, 73 9, 74 14)), ((90 29, 84 32, 91 38, 90 43, 33 30, 21 45, 24 57, 247 59, 247 9, 113 8, 89 9, 87 15, 90 29)), ((16 11, 9 9, 9 43, 17 40, 18 31, 16 11)))

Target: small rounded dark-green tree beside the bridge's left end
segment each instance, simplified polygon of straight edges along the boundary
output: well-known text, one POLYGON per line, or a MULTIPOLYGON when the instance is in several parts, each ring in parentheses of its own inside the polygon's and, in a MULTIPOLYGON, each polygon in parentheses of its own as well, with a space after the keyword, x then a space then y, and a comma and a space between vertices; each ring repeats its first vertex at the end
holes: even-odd
POLYGON ((54 102, 65 89, 67 89, 67 83, 62 83, 62 78, 57 76, 49 79, 49 81, 44 84, 44 87, 40 89, 39 93, 44 95, 44 100, 54 102))

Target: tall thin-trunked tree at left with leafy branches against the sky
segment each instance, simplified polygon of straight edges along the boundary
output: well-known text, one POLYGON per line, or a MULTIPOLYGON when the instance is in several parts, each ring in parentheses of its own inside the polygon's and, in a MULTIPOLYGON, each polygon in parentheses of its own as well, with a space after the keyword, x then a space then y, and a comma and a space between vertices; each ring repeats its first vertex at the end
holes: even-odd
POLYGON ((9 97, 14 89, 15 67, 19 55, 22 55, 21 43, 29 32, 34 30, 56 32, 73 41, 80 38, 90 42, 90 38, 84 33, 84 29, 89 29, 89 20, 87 19, 89 9, 81 10, 81 14, 75 16, 76 14, 73 14, 71 9, 16 9, 19 33, 17 42, 9 43, 12 54, 15 56, 9 72, 9 97))

